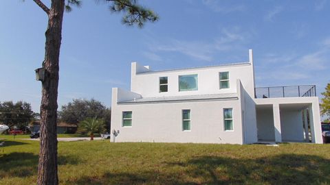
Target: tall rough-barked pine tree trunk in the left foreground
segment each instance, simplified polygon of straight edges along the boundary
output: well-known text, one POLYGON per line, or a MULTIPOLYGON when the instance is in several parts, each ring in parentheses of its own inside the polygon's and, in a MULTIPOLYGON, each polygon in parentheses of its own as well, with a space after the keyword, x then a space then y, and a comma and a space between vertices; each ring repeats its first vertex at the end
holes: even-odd
POLYGON ((62 22, 65 0, 52 0, 45 32, 45 80, 42 83, 41 138, 37 184, 58 184, 57 175, 57 89, 62 22))

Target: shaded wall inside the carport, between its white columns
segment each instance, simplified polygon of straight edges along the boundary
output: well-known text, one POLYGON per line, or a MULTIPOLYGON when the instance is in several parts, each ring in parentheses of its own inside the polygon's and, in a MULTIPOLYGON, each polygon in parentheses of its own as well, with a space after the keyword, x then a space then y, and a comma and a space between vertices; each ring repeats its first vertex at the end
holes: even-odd
POLYGON ((304 141, 303 114, 300 110, 281 110, 281 132, 283 141, 304 141))

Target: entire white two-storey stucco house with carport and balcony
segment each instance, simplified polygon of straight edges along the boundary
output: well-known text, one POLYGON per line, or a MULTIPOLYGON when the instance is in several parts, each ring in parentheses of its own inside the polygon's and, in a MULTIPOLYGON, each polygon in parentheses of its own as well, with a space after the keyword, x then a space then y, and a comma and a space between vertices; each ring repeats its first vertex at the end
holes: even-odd
POLYGON ((249 54, 249 62, 165 71, 133 62, 131 90, 112 89, 112 141, 322 143, 316 87, 255 88, 249 54))

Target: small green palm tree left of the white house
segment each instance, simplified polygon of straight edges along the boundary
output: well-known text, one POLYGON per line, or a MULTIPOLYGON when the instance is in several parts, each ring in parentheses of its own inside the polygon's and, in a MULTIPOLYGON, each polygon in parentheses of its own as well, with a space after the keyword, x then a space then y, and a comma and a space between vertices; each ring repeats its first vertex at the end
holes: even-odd
POLYGON ((91 140, 94 140, 94 133, 101 132, 104 128, 104 120, 96 117, 87 118, 80 122, 80 127, 91 136, 91 140))

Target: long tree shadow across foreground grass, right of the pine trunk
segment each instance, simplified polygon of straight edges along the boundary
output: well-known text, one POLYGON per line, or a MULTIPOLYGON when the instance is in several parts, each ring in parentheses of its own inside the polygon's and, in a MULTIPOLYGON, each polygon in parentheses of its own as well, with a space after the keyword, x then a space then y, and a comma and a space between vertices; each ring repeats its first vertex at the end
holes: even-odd
POLYGON ((88 174, 69 184, 329 184, 330 160, 320 156, 283 154, 269 158, 197 156, 166 162, 166 171, 88 174))

